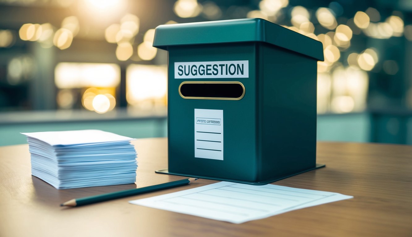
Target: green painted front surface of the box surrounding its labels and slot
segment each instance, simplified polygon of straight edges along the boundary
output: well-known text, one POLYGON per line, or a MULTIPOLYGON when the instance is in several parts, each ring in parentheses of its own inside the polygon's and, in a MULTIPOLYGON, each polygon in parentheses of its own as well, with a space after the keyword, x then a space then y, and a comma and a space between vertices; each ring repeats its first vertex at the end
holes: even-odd
MULTIPOLYGON (((255 48, 253 43, 169 47, 169 171, 227 179, 256 181, 255 48), (247 78, 176 78, 175 63, 248 60, 247 78), (183 81, 240 81, 240 100, 185 99, 183 81), (222 160, 195 156, 195 109, 222 111, 222 160)), ((199 116, 218 118, 219 116, 199 116)), ((205 139, 207 140, 207 139, 205 139)))

